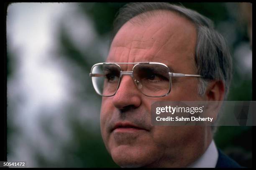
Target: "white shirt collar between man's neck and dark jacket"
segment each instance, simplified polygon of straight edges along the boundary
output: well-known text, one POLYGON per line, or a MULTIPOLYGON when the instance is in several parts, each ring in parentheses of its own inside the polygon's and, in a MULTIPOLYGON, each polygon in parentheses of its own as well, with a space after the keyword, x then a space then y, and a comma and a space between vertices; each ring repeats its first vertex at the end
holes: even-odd
POLYGON ((218 150, 215 142, 212 140, 205 153, 198 158, 188 168, 215 168, 218 161, 218 150))

